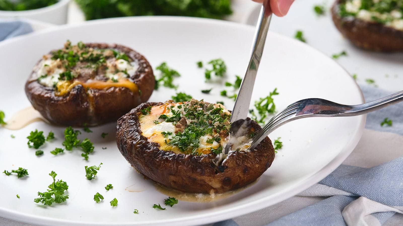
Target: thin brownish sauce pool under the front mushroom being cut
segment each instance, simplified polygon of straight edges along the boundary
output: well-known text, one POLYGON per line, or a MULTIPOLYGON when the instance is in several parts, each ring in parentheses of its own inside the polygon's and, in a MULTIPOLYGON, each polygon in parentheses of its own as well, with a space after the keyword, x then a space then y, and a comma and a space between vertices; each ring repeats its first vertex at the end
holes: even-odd
POLYGON ((231 197, 232 195, 235 195, 236 193, 239 193, 241 191, 243 191, 244 189, 251 187, 252 185, 254 185, 257 181, 259 180, 259 178, 250 183, 249 185, 246 185, 245 187, 241 187, 239 189, 235 189, 232 191, 225 191, 225 192, 220 192, 220 193, 189 193, 189 192, 183 192, 183 191, 178 191, 175 189, 170 189, 168 187, 165 187, 164 185, 160 185, 160 184, 155 184, 154 187, 155 189, 164 194, 167 195, 169 197, 175 197, 178 200, 181 201, 189 201, 189 202, 213 202, 213 201, 218 201, 220 199, 225 199, 227 197, 231 197))

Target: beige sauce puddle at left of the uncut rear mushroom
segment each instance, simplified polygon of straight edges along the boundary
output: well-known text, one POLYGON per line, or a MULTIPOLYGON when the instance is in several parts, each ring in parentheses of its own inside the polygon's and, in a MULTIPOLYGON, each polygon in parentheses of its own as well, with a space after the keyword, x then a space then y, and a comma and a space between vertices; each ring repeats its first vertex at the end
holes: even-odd
POLYGON ((11 130, 22 129, 35 121, 44 121, 46 123, 48 122, 46 121, 46 119, 44 119, 44 117, 42 117, 39 111, 36 111, 31 106, 15 113, 11 117, 11 119, 7 121, 7 124, 4 125, 4 128, 11 130))

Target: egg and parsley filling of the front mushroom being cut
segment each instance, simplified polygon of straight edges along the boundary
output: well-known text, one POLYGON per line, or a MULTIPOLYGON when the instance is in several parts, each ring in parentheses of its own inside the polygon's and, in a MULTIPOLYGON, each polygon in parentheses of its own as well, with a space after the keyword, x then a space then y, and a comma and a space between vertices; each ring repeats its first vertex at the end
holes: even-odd
MULTIPOLYGON (((159 144, 160 150, 184 154, 224 155, 229 144, 231 113, 221 104, 192 99, 188 102, 165 103, 141 110, 141 134, 150 142, 159 144)), ((245 150, 250 147, 247 136, 236 138, 231 148, 245 150)), ((234 150, 235 150, 234 149, 234 150)))

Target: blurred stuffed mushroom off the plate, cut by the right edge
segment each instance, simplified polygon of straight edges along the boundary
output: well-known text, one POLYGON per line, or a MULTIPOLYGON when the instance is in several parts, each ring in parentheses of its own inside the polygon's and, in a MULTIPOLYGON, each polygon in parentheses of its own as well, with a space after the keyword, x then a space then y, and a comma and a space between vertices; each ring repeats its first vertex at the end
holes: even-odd
POLYGON ((358 47, 403 51, 403 0, 336 0, 332 18, 358 47))

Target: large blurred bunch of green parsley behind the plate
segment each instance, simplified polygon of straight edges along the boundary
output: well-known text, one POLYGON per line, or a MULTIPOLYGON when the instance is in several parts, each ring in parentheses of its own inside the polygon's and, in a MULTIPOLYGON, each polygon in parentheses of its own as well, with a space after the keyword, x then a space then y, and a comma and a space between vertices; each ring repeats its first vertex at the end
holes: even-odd
POLYGON ((75 0, 86 20, 120 16, 196 16, 222 18, 231 11, 231 0, 75 0))

